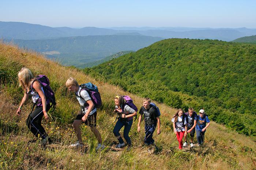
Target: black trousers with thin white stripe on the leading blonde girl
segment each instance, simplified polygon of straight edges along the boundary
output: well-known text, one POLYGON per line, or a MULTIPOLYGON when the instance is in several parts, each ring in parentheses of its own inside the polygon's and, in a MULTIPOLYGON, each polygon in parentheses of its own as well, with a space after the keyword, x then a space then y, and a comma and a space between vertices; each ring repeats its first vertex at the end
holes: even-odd
MULTIPOLYGON (((50 110, 50 104, 46 105, 46 111, 50 110)), ((43 107, 35 107, 35 110, 29 114, 29 117, 26 120, 27 127, 29 130, 35 135, 35 137, 41 137, 42 139, 45 139, 47 137, 47 134, 45 132, 44 127, 42 126, 42 118, 43 118, 44 112, 43 107), (38 136, 39 134, 39 136, 38 136)))

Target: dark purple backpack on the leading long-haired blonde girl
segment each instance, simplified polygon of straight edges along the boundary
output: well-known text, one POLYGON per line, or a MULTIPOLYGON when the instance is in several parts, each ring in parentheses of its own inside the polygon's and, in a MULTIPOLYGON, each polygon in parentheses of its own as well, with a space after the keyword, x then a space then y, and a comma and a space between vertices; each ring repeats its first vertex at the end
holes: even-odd
MULTIPOLYGON (((45 94, 45 98, 46 98, 46 104, 52 103, 51 107, 54 106, 54 109, 55 109, 56 99, 55 99, 54 92, 53 92, 52 88, 50 87, 50 81, 49 81, 48 77, 46 75, 41 75, 40 74, 35 78, 35 81, 36 80, 38 80, 38 82, 41 84, 41 86, 44 90, 44 94, 45 94)), ((31 89, 30 92, 35 90, 33 88, 33 83, 31 83, 31 85, 30 85, 30 89, 31 89)), ((38 98, 37 102, 35 102, 34 105, 43 106, 42 105, 42 99, 38 98)), ((33 108, 34 108, 34 106, 33 106, 33 108)), ((33 111, 33 109, 32 109, 32 111, 33 111)))

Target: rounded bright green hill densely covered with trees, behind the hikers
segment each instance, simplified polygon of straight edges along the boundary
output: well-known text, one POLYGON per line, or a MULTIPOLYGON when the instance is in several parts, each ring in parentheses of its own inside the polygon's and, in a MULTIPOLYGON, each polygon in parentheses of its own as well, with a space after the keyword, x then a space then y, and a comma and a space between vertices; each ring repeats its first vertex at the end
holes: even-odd
POLYGON ((215 121, 256 135, 245 121, 256 113, 255 61, 252 44, 166 39, 85 71, 176 108, 203 107, 215 121))

